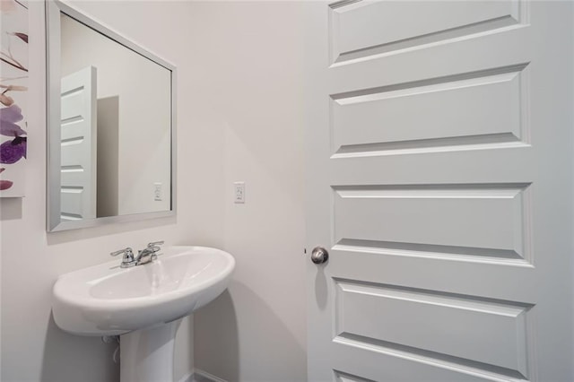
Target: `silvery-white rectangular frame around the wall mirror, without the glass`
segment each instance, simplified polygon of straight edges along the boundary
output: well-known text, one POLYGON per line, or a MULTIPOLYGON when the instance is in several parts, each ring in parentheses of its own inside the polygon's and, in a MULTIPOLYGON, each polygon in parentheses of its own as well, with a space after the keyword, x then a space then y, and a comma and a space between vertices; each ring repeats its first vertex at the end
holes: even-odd
POLYGON ((96 227, 109 223, 141 221, 144 219, 164 218, 176 215, 176 79, 177 70, 175 65, 151 52, 136 45, 134 42, 120 36, 117 32, 95 22, 91 18, 79 13, 74 8, 57 0, 46 2, 46 65, 47 65, 47 121, 48 121, 48 154, 47 154, 47 230, 75 230, 80 228, 96 227), (97 30, 118 44, 133 50, 154 63, 163 66, 171 72, 171 195, 170 210, 153 213, 133 213, 126 215, 109 216, 96 219, 78 221, 61 221, 61 157, 60 157, 60 12, 69 15, 78 22, 82 22, 93 30, 97 30), (58 126, 58 128, 55 128, 58 126))

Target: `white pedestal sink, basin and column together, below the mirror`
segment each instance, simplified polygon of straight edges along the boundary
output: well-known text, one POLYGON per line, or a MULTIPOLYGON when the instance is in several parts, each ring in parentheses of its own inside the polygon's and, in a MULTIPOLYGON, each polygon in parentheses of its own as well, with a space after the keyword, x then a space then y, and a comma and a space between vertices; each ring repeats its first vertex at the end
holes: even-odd
POLYGON ((219 249, 166 247, 146 265, 66 273, 54 285, 54 320, 72 334, 120 335, 121 382, 173 381, 180 318, 225 291, 234 267, 219 249))

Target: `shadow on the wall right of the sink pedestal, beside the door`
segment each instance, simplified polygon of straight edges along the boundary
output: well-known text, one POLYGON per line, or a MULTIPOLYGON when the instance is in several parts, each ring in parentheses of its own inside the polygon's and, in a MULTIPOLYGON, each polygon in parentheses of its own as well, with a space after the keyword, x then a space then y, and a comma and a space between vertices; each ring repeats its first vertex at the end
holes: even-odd
POLYGON ((306 380, 306 369, 292 369, 306 364, 305 349, 281 317, 245 284, 232 281, 218 299, 196 312, 194 324, 196 369, 229 382, 284 381, 285 376, 306 380), (236 307, 233 300, 241 305, 236 307))

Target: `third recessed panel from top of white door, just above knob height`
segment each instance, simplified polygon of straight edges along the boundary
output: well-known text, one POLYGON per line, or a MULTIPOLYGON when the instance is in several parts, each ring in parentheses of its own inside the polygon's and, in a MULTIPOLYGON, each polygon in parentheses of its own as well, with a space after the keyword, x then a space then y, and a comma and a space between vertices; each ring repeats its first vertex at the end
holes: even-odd
POLYGON ((335 243, 524 258, 526 187, 336 187, 335 243))

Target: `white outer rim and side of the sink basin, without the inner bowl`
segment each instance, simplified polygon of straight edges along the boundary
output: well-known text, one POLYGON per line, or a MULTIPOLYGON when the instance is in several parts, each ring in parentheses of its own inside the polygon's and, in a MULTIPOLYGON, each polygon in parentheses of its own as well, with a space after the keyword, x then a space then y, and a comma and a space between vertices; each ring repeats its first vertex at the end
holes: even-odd
MULTIPOLYGON (((53 288, 53 313, 58 326, 63 330, 83 335, 121 334, 152 325, 153 322, 169 322, 170 319, 183 317, 196 308, 213 300, 227 288, 230 274, 235 268, 235 259, 229 253, 213 247, 199 246, 173 246, 165 247, 161 251, 155 264, 138 265, 132 268, 120 268, 118 261, 109 261, 100 265, 93 265, 74 272, 62 274, 53 288), (134 277, 141 277, 147 269, 154 273, 153 268, 162 262, 167 265, 167 273, 173 270, 174 265, 168 263, 181 256, 203 256, 200 261, 214 264, 208 269, 207 275, 200 272, 192 273, 191 277, 199 275, 198 282, 183 283, 175 289, 159 291, 158 294, 143 296, 102 298, 91 294, 91 288, 98 283, 105 282, 125 273, 134 273, 134 277), (215 263, 210 261, 214 257, 215 263), (206 277, 206 279, 202 279, 206 277), (140 312, 141 311, 141 312, 140 312), (165 313, 161 313, 165 311, 165 313), (149 317, 147 317, 149 316, 149 317), (163 317, 158 321, 158 317, 163 317), (133 325, 130 318, 134 318, 133 325), (102 323, 103 320, 103 323, 102 323)), ((184 261, 193 262, 185 259, 184 261)), ((193 263, 184 263, 189 266, 193 263)), ((129 276, 128 276, 129 277, 129 276)), ((180 281, 185 280, 183 277, 180 281)))

